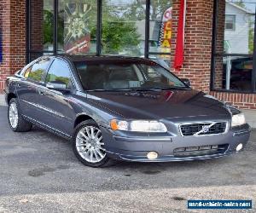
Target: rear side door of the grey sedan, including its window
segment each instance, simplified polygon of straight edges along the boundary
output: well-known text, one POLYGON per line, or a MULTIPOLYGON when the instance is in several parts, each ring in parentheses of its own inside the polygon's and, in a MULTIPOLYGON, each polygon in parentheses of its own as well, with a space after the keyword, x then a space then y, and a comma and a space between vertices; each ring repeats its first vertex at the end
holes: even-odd
POLYGON ((40 119, 42 109, 38 104, 39 88, 44 85, 44 77, 49 64, 50 58, 45 57, 26 66, 22 72, 22 79, 16 86, 22 114, 34 120, 40 119))

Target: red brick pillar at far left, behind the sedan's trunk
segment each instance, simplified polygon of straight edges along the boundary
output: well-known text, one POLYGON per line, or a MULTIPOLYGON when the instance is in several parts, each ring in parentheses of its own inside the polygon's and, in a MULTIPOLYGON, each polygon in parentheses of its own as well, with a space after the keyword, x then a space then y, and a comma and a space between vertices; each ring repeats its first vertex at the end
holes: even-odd
POLYGON ((5 79, 26 64, 26 0, 1 0, 0 19, 3 34, 2 91, 5 79))

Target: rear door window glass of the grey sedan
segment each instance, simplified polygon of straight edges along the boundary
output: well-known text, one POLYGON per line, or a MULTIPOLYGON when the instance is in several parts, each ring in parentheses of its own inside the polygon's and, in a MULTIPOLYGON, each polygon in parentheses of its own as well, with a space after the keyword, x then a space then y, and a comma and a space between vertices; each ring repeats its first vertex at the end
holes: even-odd
POLYGON ((28 68, 24 73, 24 77, 35 82, 41 82, 44 77, 44 73, 49 66, 49 58, 39 60, 32 67, 28 68))

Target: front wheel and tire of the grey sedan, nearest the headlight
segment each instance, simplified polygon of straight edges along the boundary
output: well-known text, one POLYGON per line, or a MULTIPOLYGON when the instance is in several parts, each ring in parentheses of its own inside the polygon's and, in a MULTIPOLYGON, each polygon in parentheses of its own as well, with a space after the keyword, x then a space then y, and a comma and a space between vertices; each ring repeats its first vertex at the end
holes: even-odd
POLYGON ((73 133, 73 152, 79 161, 90 167, 107 167, 114 163, 104 151, 102 132, 92 119, 80 123, 73 133), (93 135, 95 137, 93 137, 93 135))

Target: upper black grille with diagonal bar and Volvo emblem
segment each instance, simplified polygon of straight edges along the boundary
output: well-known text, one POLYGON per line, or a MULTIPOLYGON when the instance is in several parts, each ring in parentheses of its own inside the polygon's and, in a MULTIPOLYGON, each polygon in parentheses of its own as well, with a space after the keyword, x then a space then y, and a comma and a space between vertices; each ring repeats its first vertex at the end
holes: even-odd
POLYGON ((200 124, 181 124, 180 130, 183 136, 192 135, 216 135, 222 134, 226 130, 226 122, 200 123, 200 124))

